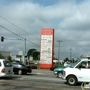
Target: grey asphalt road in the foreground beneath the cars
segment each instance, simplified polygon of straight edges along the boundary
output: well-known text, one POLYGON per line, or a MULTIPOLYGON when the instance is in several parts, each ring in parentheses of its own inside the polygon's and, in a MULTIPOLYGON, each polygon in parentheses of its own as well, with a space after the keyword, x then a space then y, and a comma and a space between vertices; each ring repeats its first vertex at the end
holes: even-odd
POLYGON ((69 86, 56 78, 53 71, 37 69, 28 75, 0 78, 0 90, 82 90, 80 85, 69 86))

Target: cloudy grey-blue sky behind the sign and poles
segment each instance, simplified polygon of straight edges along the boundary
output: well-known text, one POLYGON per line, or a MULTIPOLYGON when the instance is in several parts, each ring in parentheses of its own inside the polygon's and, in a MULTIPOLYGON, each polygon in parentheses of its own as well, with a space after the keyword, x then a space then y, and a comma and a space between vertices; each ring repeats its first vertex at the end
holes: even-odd
POLYGON ((0 51, 40 51, 42 28, 54 28, 54 56, 90 55, 90 0, 0 0, 0 51), (17 39, 17 40, 16 40, 17 39))

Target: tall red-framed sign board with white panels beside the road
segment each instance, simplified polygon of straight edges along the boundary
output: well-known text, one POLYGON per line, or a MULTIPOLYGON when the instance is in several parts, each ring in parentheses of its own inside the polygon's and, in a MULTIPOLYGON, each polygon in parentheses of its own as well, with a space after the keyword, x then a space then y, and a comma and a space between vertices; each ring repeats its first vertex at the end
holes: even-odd
POLYGON ((54 29, 41 30, 40 68, 49 69, 53 66, 54 29))

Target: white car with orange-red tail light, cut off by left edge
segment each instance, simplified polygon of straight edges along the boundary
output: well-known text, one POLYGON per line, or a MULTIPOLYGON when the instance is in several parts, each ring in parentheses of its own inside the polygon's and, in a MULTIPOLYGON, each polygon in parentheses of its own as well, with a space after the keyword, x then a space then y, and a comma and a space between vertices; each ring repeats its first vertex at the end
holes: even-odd
POLYGON ((0 59, 0 77, 10 77, 13 73, 12 64, 5 59, 0 59))

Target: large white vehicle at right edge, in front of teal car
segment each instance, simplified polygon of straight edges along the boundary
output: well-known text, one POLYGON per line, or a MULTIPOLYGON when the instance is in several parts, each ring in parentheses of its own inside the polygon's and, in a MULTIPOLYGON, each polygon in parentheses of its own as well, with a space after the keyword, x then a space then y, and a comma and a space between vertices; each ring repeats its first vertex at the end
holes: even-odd
POLYGON ((84 58, 78 62, 72 64, 72 66, 63 70, 62 79, 66 80, 69 85, 76 85, 78 82, 89 82, 90 83, 90 68, 88 66, 90 59, 84 58))

